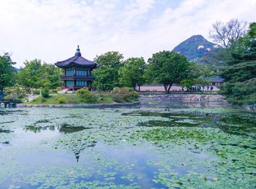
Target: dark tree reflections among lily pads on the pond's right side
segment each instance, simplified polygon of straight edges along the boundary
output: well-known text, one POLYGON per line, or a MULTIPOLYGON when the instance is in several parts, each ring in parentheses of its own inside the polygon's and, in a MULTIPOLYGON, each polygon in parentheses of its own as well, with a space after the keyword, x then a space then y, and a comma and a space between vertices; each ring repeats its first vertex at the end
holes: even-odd
MULTIPOLYGON (((165 108, 168 109, 167 107, 165 108)), ((165 117, 170 120, 148 120, 138 123, 143 127, 211 127, 219 128, 227 134, 252 136, 256 138, 256 114, 248 112, 226 112, 225 114, 199 112, 148 112, 135 111, 122 113, 124 116, 145 116, 145 117, 165 117)))

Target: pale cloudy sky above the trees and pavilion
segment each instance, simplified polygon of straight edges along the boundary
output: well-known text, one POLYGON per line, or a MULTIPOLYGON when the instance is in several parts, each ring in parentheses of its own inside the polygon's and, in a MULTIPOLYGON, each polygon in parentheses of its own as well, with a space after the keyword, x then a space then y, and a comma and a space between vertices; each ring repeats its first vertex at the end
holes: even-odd
POLYGON ((124 58, 173 50, 212 23, 256 21, 256 0, 0 0, 0 54, 16 67, 34 58, 55 63, 118 51, 124 58))

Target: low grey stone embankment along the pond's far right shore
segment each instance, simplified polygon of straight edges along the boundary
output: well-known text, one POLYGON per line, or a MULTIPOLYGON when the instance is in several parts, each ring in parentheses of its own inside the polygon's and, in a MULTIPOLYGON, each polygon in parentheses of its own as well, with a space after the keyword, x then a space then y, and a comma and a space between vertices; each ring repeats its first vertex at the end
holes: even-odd
POLYGON ((180 101, 225 101, 221 95, 208 95, 208 94, 140 94, 141 101, 150 100, 180 100, 180 101))

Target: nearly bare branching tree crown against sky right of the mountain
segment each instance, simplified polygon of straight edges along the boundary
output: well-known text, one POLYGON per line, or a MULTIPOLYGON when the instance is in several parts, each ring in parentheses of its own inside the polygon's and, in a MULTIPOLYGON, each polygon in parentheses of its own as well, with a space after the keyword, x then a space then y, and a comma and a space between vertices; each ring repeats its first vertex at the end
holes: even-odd
POLYGON ((247 23, 238 19, 231 19, 227 23, 217 21, 212 27, 210 37, 222 47, 228 48, 246 34, 247 23))

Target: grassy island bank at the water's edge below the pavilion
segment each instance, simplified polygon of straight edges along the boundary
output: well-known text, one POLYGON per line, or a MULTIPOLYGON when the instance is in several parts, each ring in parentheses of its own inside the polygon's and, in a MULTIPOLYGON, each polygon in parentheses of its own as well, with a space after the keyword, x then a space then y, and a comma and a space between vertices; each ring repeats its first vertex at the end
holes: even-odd
MULTIPOLYGON (((116 103, 113 96, 110 94, 94 96, 91 100, 85 101, 80 99, 76 94, 50 94, 48 98, 43 96, 37 97, 29 102, 23 104, 111 104, 116 103)), ((118 101, 120 103, 133 102, 133 101, 118 101)))

